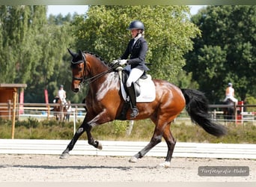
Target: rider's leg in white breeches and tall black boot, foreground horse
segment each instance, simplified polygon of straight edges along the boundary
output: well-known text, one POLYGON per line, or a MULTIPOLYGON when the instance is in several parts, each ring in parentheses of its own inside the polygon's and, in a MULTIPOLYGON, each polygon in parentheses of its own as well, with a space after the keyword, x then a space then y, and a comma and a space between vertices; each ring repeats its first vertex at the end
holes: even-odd
POLYGON ((133 68, 129 73, 129 78, 127 79, 127 91, 129 94, 129 100, 131 104, 131 117, 135 118, 138 115, 138 108, 136 107, 136 94, 134 88, 134 82, 136 82, 141 75, 144 73, 144 70, 138 68, 133 68))

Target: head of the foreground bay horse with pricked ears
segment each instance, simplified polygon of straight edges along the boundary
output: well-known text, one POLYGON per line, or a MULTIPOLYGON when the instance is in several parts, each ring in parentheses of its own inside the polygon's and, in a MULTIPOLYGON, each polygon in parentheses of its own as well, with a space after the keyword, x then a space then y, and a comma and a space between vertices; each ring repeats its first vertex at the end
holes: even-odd
POLYGON ((80 84, 85 81, 85 76, 87 76, 85 54, 83 54, 82 51, 74 53, 70 49, 67 50, 72 56, 70 66, 73 74, 71 90, 77 93, 80 90, 80 84))

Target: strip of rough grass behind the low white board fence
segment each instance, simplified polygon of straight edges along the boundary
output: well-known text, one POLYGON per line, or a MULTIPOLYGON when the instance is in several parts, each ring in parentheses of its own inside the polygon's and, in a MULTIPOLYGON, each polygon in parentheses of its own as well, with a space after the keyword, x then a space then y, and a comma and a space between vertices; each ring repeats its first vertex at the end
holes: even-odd
MULTIPOLYGON (((80 122, 81 123, 81 122, 80 122)), ((80 124, 79 123, 79 124, 80 124)), ((115 120, 91 130, 97 140, 108 141, 150 141, 153 135, 154 125, 150 120, 135 121, 132 133, 127 135, 127 121, 115 120)), ((174 123, 171 132, 178 142, 203 142, 203 143, 227 143, 227 144, 255 144, 256 126, 252 123, 236 126, 230 123, 228 135, 216 138, 204 132, 204 129, 188 122, 174 123)), ((11 138, 11 122, 0 118, 0 138, 11 138)), ((64 139, 73 137, 73 122, 64 123, 56 120, 27 120, 16 121, 16 139, 64 139)), ((86 133, 80 139, 87 139, 86 133)))

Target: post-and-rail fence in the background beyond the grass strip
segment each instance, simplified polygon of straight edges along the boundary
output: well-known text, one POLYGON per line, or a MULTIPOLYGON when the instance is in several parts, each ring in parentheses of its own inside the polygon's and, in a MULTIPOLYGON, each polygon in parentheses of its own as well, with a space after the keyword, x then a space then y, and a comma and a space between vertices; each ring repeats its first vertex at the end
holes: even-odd
MULTIPOLYGON (((16 119, 24 119, 26 117, 34 117, 37 119, 52 119, 54 118, 54 114, 59 113, 59 112, 54 112, 52 111, 52 108, 55 105, 59 105, 56 103, 23 103, 17 104, 16 107, 16 119)), ((84 107, 84 104, 71 104, 73 111, 70 112, 70 120, 79 120, 83 119, 85 117, 86 111, 84 107)), ((250 107, 256 107, 256 105, 237 105, 237 108, 240 107, 244 108, 250 108, 250 107)), ((223 117, 223 111, 222 108, 227 107, 227 105, 209 105, 210 107, 210 117, 213 120, 217 120, 219 122, 224 122, 224 117, 223 117)), ((0 102, 0 117, 7 117, 9 120, 11 119, 11 114, 12 114, 12 103, 11 102, 0 102), (4 112, 4 115, 1 114, 4 112)), ((237 113, 236 113, 237 114, 237 113)), ((242 111, 241 113, 242 117, 240 121, 237 121, 237 117, 234 117, 234 120, 231 121, 236 121, 239 123, 243 122, 251 122, 255 123, 256 120, 256 112, 246 112, 242 111)), ((186 110, 184 109, 183 112, 180 114, 179 117, 177 117, 176 120, 189 120, 190 117, 186 113, 186 110)))

